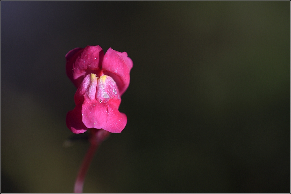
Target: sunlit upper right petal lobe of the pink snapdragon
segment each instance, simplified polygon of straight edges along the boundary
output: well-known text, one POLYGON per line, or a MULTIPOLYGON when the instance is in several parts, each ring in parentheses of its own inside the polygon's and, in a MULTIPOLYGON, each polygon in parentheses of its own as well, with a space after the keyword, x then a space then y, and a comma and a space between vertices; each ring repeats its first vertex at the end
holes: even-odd
POLYGON ((111 76, 116 82, 120 96, 128 88, 130 77, 130 69, 132 68, 132 60, 127 57, 127 53, 120 53, 109 48, 104 55, 102 62, 102 71, 105 75, 111 76))

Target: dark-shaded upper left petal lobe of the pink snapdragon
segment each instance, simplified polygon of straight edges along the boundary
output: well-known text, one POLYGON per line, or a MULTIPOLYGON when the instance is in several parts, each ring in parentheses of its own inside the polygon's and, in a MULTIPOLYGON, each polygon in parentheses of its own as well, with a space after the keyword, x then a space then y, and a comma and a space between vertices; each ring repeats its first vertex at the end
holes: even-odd
POLYGON ((103 56, 104 52, 99 45, 75 48, 67 53, 67 75, 76 87, 79 87, 86 75, 100 74, 103 56))

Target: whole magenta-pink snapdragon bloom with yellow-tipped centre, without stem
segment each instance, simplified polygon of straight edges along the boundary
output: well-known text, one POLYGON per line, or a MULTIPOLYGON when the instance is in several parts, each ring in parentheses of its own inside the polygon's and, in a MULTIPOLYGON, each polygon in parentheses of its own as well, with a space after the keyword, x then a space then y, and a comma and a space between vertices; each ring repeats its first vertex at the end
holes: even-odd
POLYGON ((67 127, 73 133, 90 128, 120 133, 127 123, 126 115, 118 111, 120 96, 128 88, 133 66, 127 53, 109 48, 104 55, 100 46, 87 46, 69 51, 66 60, 67 75, 78 88, 67 127))

